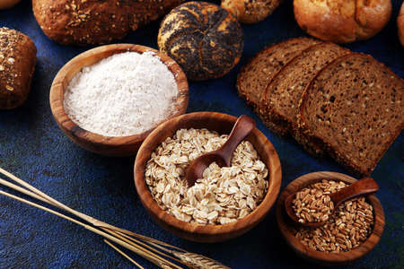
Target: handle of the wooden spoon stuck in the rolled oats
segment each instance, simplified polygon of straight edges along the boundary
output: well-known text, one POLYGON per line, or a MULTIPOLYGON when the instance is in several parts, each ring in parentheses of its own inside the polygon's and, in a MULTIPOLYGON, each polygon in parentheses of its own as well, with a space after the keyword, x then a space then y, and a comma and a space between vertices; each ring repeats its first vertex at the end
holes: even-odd
POLYGON ((240 116, 233 126, 227 141, 216 151, 225 161, 226 166, 230 166, 233 152, 242 140, 250 134, 255 127, 255 121, 247 115, 240 116))

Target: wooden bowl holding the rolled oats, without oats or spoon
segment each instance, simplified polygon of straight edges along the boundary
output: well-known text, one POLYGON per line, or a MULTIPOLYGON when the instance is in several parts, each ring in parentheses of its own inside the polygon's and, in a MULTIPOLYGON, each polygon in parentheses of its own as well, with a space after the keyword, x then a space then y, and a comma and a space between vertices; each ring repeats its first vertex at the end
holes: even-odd
MULTIPOLYGON (((215 112, 196 112, 174 117, 154 129, 137 152, 135 162, 135 184, 137 194, 148 213, 152 215, 166 230, 175 235, 197 242, 219 242, 233 239, 252 229, 271 209, 277 199, 281 186, 281 166, 277 152, 268 138, 255 128, 247 140, 259 153, 261 161, 268 167, 269 187, 267 195, 259 206, 249 215, 239 221, 224 225, 200 225, 176 219, 163 211, 154 201, 145 183, 145 165, 150 160, 152 152, 167 137, 171 137, 181 128, 206 128, 219 134, 230 134, 237 117, 215 112)), ((184 179, 185 180, 185 179, 184 179)))

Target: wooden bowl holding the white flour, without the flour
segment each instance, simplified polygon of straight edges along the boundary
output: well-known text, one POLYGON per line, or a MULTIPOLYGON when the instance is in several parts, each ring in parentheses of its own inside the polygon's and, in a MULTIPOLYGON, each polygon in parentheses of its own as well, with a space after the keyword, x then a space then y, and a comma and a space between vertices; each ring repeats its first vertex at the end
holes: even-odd
MULTIPOLYGON (((53 117, 57 121, 57 125, 62 131, 70 137, 75 143, 82 146, 84 149, 100 153, 108 156, 129 156, 135 155, 136 151, 145 140, 145 137, 152 132, 152 129, 142 133, 129 136, 104 136, 86 131, 80 126, 77 126, 65 113, 63 106, 64 93, 70 80, 82 70, 84 66, 93 65, 101 59, 112 56, 114 54, 135 51, 143 53, 145 51, 153 51, 156 56, 159 56, 162 63, 167 65, 175 81, 178 85, 177 101, 174 107, 174 113, 171 117, 176 117, 184 114, 188 107, 189 87, 185 74, 171 57, 160 53, 154 48, 147 48, 132 44, 113 44, 92 48, 83 52, 79 56, 75 56, 65 66, 60 69, 55 77, 50 88, 50 108, 53 117)), ((171 118, 169 117, 169 118, 171 118)), ((168 119, 168 118, 167 118, 168 119)), ((166 119, 165 119, 166 120, 166 119)))

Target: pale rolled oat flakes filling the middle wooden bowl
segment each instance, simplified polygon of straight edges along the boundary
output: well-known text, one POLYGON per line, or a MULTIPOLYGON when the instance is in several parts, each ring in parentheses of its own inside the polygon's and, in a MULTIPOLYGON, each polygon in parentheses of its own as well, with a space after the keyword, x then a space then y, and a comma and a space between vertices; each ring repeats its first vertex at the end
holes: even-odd
POLYGON ((226 224, 242 219, 268 190, 268 169, 248 141, 239 144, 230 167, 209 165, 193 187, 185 172, 198 156, 218 149, 228 135, 180 129, 158 146, 146 164, 145 181, 162 210, 180 221, 226 224))

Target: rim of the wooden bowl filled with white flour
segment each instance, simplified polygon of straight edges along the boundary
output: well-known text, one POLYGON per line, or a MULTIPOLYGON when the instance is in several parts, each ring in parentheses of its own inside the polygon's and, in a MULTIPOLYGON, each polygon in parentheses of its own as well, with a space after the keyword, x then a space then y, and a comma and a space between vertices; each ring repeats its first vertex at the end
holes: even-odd
POLYGON ((92 48, 84 51, 83 53, 75 56, 70 61, 66 63, 55 76, 52 85, 50 87, 49 92, 49 102, 50 108, 52 111, 52 115, 57 121, 57 125, 68 134, 71 134, 73 137, 78 138, 79 140, 87 141, 92 144, 103 145, 103 146, 121 146, 122 144, 132 144, 138 143, 139 141, 145 140, 148 134, 150 134, 154 128, 150 128, 149 130, 141 133, 141 134, 132 134, 127 136, 106 136, 102 134, 92 133, 91 131, 87 131, 82 127, 75 124, 75 122, 67 116, 64 108, 64 92, 70 82, 71 78, 77 74, 79 71, 83 69, 85 66, 94 65, 95 63, 101 61, 101 59, 106 58, 108 56, 112 56, 114 54, 119 54, 123 52, 137 52, 144 53, 148 51, 154 52, 155 56, 158 56, 164 65, 167 65, 171 74, 174 75, 175 82, 178 86, 178 94, 177 100, 174 104, 173 114, 170 117, 163 119, 156 126, 162 124, 162 122, 170 119, 171 117, 177 117, 179 115, 184 114, 187 111, 188 103, 189 103, 189 84, 187 81, 187 77, 173 59, 170 56, 154 49, 136 44, 128 44, 128 43, 120 43, 120 44, 110 44, 103 45, 96 48, 92 48), (95 61, 92 61, 91 64, 84 64, 83 59, 92 58, 98 55, 105 54, 104 57, 99 58, 95 61), (78 65, 78 67, 77 67, 78 65), (73 74, 70 73, 72 69, 76 68, 76 72, 73 74), (70 76, 68 82, 66 82, 66 77, 70 76))

